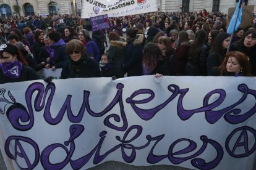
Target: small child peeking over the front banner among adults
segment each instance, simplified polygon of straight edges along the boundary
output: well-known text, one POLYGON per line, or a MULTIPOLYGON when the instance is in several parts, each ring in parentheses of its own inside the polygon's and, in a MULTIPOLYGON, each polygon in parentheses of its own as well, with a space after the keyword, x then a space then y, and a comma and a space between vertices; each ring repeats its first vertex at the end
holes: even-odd
POLYGON ((113 64, 109 60, 108 54, 103 54, 100 60, 100 69, 103 77, 113 76, 113 64))

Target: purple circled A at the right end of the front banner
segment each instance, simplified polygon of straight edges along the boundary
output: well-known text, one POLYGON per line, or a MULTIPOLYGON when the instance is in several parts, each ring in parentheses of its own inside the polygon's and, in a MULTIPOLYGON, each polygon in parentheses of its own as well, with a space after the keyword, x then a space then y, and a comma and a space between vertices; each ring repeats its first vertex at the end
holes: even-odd
POLYGON ((237 128, 237 129, 234 129, 234 131, 232 131, 231 134, 229 134, 229 136, 227 137, 225 145, 226 145, 226 150, 227 150, 227 152, 230 156, 233 156, 234 158, 247 157, 247 156, 251 155, 252 153, 254 153, 255 150, 256 150, 256 130, 252 127, 249 127, 249 126, 242 126, 242 127, 237 128), (234 137, 234 135, 239 131, 241 131, 241 134, 237 138, 236 143, 233 146, 233 149, 230 150, 229 142, 234 137), (254 145, 250 149, 249 149, 249 139, 248 139, 247 131, 252 133, 252 135, 254 136, 254 145), (241 142, 241 140, 243 142, 241 142), (241 154, 235 153, 236 149, 238 147, 244 147, 244 153, 241 153, 241 154))

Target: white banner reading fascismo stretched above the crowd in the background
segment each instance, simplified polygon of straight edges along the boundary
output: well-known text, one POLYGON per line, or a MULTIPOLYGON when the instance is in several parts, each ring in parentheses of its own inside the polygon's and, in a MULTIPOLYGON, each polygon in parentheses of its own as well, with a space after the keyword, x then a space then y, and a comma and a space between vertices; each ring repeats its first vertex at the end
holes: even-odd
POLYGON ((108 14, 108 17, 143 14, 157 11, 156 0, 84 0, 82 18, 108 14))

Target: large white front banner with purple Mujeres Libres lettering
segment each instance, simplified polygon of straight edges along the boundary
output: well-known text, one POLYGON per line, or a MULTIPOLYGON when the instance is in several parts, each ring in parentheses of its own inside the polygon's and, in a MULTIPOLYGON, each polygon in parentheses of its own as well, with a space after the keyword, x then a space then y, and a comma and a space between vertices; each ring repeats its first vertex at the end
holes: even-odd
POLYGON ((8 169, 87 169, 110 160, 252 169, 255 84, 210 76, 1 84, 1 151, 8 169))

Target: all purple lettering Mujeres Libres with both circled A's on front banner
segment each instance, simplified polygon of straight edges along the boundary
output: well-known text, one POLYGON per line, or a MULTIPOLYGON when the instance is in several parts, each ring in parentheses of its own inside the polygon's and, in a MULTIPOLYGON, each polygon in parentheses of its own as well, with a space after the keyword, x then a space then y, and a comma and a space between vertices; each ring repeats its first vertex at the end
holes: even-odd
MULTIPOLYGON (((213 169, 223 158, 224 152, 223 147, 216 142, 213 139, 208 139, 207 136, 201 136, 200 140, 202 140, 203 144, 202 147, 197 148, 197 143, 194 142, 191 139, 177 139, 173 144, 169 146, 168 152, 164 153, 163 155, 155 155, 153 152, 156 148, 156 146, 159 144, 159 142, 164 138, 164 134, 161 134, 156 137, 151 137, 150 134, 146 136, 145 144, 142 144, 141 146, 134 146, 132 142, 136 139, 138 139, 142 135, 143 127, 139 125, 132 125, 128 128, 128 121, 126 118, 126 113, 124 110, 124 103, 122 101, 122 92, 124 89, 124 84, 118 83, 116 86, 116 94, 114 96, 114 99, 109 102, 109 104, 103 108, 102 111, 95 113, 90 108, 89 103, 89 97, 90 97, 90 91, 83 91, 83 102, 80 107, 78 114, 73 114, 72 107, 71 107, 71 99, 72 95, 67 95, 66 100, 62 104, 58 114, 53 118, 51 115, 51 105, 53 102, 53 97, 56 91, 56 86, 54 83, 48 83, 47 86, 43 83, 32 83, 30 86, 28 86, 28 89, 25 93, 25 99, 27 103, 27 108, 25 108, 20 103, 15 102, 15 99, 12 95, 9 95, 13 103, 11 107, 7 109, 6 116, 9 119, 12 126, 19 130, 19 131, 28 131, 32 129, 34 124, 34 113, 33 108, 35 111, 41 111, 44 110, 44 118, 45 121, 51 125, 59 124, 65 113, 67 113, 67 118, 71 123, 80 123, 83 119, 83 115, 85 114, 85 111, 88 112, 90 116, 93 116, 95 118, 105 116, 109 111, 111 111, 116 105, 118 104, 120 108, 120 115, 117 114, 110 114, 107 115, 104 119, 103 123, 105 126, 114 129, 116 131, 125 131, 124 136, 116 136, 116 142, 117 144, 114 146, 111 146, 108 150, 105 148, 105 153, 101 153, 103 142, 105 142, 106 135, 108 134, 108 131, 101 131, 100 132, 100 138, 98 140, 98 143, 95 144, 95 147, 90 150, 87 155, 82 156, 81 158, 78 158, 77 160, 72 160, 72 155, 74 155, 75 152, 75 139, 77 139, 82 132, 84 131, 85 127, 80 124, 73 124, 69 127, 69 133, 70 137, 69 140, 64 142, 64 144, 56 143, 56 144, 50 144, 48 145, 42 152, 41 152, 41 160, 40 160, 40 150, 38 148, 38 145, 36 142, 34 142, 32 139, 29 139, 27 137, 19 137, 19 136, 11 136, 8 137, 5 144, 5 150, 7 156, 11 158, 12 160, 15 160, 17 163, 17 166, 21 168, 19 163, 17 162, 17 157, 23 158, 25 160, 25 163, 27 164, 27 169, 33 169, 36 167, 39 161, 41 161, 41 164, 43 168, 45 169, 62 169, 64 168, 68 163, 70 163, 70 166, 73 169, 80 169, 85 164, 88 163, 88 161, 93 158, 93 164, 101 163, 105 158, 117 150, 121 151, 121 155, 124 161, 126 163, 132 163, 137 155, 137 150, 143 150, 143 148, 148 147, 150 145, 151 141, 155 140, 155 144, 153 144, 150 152, 147 156, 147 162, 150 164, 155 164, 160 162, 161 160, 168 158, 169 161, 173 164, 180 164, 184 161, 191 160, 192 166, 198 169, 213 169), (35 96, 36 93, 36 96, 35 96), (32 101, 32 98, 35 97, 35 101, 32 101), (111 123, 110 119, 114 119, 117 123, 120 123, 122 121, 121 126, 117 126, 114 123, 111 123), (130 137, 129 139, 127 139, 130 137), (11 153, 11 141, 15 141, 15 154, 12 155, 11 153), (26 151, 22 147, 22 142, 27 142, 28 144, 32 145, 33 149, 35 150, 35 160, 33 160, 33 163, 30 163, 29 156, 27 156, 26 151), (183 149, 174 152, 176 145, 179 145, 187 142, 188 145, 184 147, 183 149), (213 158, 213 160, 206 162, 203 160, 203 158, 196 158, 197 156, 200 156, 207 148, 208 144, 212 145, 213 148, 216 151, 216 156, 213 158), (19 152, 18 152, 19 148, 19 152), (66 158, 62 160, 59 163, 51 163, 50 155, 56 148, 62 148, 66 152, 66 158), (126 150, 129 150, 130 155, 127 154, 126 150), (195 150, 197 150, 195 152, 195 150), (182 157, 181 155, 188 155, 191 153, 190 156, 182 157)), ((208 92, 208 94, 205 95, 203 98, 203 106, 199 108, 195 108, 192 110, 186 110, 183 106, 183 99, 186 96, 186 94, 189 92, 189 89, 180 89, 179 86, 175 84, 170 84, 168 86, 168 91, 171 92, 168 99, 166 99, 163 103, 160 103, 160 105, 157 105, 154 108, 149 109, 143 109, 139 108, 138 105, 142 105, 148 102, 151 102, 151 100, 155 99, 155 93, 151 89, 139 89, 130 95, 126 99, 126 102, 130 104, 132 109, 135 111, 135 113, 143 120, 148 121, 152 119, 156 113, 158 113, 160 110, 162 110, 166 105, 168 105, 169 102, 173 101, 177 95, 177 115, 181 120, 187 120, 190 117, 192 117, 195 113, 205 113, 205 119, 208 123, 214 124, 219 119, 224 117, 224 119, 230 123, 230 124, 239 124, 247 119, 249 119, 252 115, 256 112, 256 104, 250 108, 249 111, 246 113, 241 114, 241 109, 236 108, 237 105, 241 104, 242 102, 247 99, 248 95, 252 95, 256 99, 256 91, 249 89, 249 87, 246 84, 239 84, 237 86, 237 90, 239 92, 242 92, 241 98, 237 100, 236 103, 233 103, 232 105, 229 105, 228 107, 222 108, 221 110, 213 110, 216 107, 221 106, 221 104, 226 99, 226 91, 223 89, 215 89, 213 91, 208 92), (141 100, 135 100, 137 96, 140 94, 146 94, 149 95, 149 97, 141 100), (210 99, 214 96, 218 95, 216 99, 209 103, 210 99), (240 114, 240 115, 239 115, 240 114)), ((5 89, 4 89, 5 91, 5 89)), ((4 92, 3 90, 1 92, 4 92)), ((4 98, 5 99, 5 98, 4 98)), ((2 99, 3 100, 3 99, 2 99)), ((6 99, 4 101, 7 101, 6 99)), ((1 101, 0 101, 1 102, 1 101)), ((234 141, 234 140, 232 140, 234 141)), ((252 127, 243 126, 235 129, 231 134, 229 134, 228 138, 226 139, 226 150, 229 153, 229 155, 233 156, 234 158, 243 158, 246 156, 251 155, 256 150, 256 130, 252 127), (236 134, 236 132, 241 131, 240 136, 237 138, 233 149, 230 149, 229 143, 231 142, 231 139, 236 134), (247 132, 252 133, 255 139, 255 143, 252 148, 249 148, 249 134, 247 132), (242 141, 242 142, 241 142, 242 141), (237 148, 244 147, 244 153, 236 153, 237 148)))

